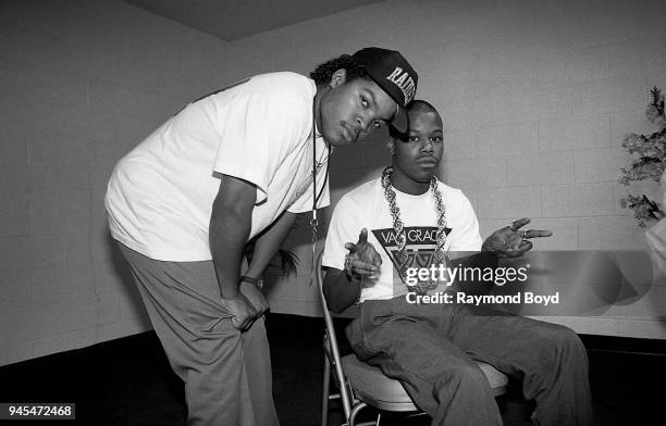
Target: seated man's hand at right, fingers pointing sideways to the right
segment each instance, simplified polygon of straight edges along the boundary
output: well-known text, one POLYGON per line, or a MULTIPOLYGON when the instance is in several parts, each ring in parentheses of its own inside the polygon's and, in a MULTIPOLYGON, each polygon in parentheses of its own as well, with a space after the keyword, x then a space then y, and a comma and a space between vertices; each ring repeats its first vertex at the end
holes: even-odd
POLYGON ((494 253, 498 258, 518 258, 532 248, 532 242, 528 238, 550 237, 553 235, 550 230, 519 230, 529 223, 530 220, 523 217, 514 222, 510 226, 495 230, 483 241, 481 250, 494 253))

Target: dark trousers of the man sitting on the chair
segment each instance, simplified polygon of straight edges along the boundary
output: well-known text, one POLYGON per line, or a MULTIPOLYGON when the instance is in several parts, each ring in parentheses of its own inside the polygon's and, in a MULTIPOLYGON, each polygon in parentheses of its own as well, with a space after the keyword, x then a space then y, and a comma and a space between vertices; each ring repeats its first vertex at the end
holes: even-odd
POLYGON ((432 425, 502 425, 473 361, 522 381, 536 425, 592 424, 587 352, 567 327, 398 297, 363 302, 347 337, 359 359, 403 383, 432 425))

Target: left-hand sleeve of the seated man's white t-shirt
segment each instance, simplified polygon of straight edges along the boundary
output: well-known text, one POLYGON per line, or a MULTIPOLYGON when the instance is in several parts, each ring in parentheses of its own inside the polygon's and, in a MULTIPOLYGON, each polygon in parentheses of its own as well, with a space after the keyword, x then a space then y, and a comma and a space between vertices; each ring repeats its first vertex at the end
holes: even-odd
POLYGON ((345 268, 345 242, 356 242, 362 228, 361 211, 348 197, 337 202, 329 224, 329 233, 324 243, 324 252, 321 260, 323 266, 345 268))

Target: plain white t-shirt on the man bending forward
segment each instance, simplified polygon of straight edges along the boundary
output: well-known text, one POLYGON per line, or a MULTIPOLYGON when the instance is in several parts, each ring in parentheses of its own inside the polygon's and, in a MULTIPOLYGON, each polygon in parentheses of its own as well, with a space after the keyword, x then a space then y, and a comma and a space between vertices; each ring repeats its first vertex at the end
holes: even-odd
MULTIPOLYGON (((115 165, 104 200, 112 237, 155 260, 210 260, 222 174, 257 187, 249 238, 285 210, 311 209, 316 93, 305 76, 272 73, 188 104, 115 165)), ((321 137, 316 146, 322 208, 329 148, 321 137)))

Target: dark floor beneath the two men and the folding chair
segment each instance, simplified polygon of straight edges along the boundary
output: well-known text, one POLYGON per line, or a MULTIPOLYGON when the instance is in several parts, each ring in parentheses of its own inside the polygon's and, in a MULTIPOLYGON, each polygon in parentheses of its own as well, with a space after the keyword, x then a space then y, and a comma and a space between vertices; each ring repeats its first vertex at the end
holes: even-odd
MULTIPOLYGON (((342 328, 342 324, 338 328, 342 328)), ((320 424, 323 354, 321 318, 271 314, 274 399, 283 426, 320 424)), ((590 355, 597 425, 666 422, 666 342, 581 336, 590 355)), ((75 402, 66 425, 183 425, 183 386, 153 333, 0 367, 0 402, 75 402)), ((507 426, 530 425, 530 404, 517 389, 499 401, 507 426)), ((330 414, 340 425, 340 411, 330 414)), ((10 424, 0 421, 0 425, 10 424)), ((16 422, 28 425, 29 421, 16 422)), ((35 422, 35 424, 45 424, 35 422)), ((382 425, 428 425, 427 417, 382 425)))

